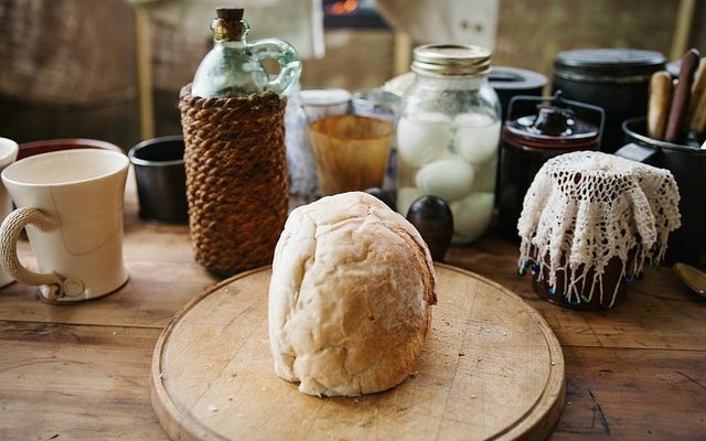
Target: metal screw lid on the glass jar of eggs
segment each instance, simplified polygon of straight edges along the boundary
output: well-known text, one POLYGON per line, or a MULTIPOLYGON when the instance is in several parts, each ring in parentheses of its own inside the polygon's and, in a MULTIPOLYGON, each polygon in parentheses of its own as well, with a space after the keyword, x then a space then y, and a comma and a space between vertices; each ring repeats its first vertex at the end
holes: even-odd
POLYGON ((490 55, 489 50, 470 44, 426 44, 415 47, 411 69, 438 76, 486 74, 490 55))

